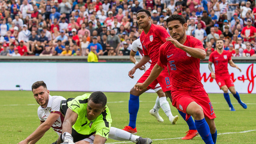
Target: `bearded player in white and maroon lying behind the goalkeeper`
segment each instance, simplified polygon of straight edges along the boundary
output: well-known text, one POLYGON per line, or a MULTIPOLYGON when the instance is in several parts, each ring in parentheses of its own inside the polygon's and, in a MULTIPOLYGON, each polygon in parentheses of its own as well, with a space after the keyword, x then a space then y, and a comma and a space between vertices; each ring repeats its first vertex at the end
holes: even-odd
MULTIPOLYGON (((32 85, 32 92, 34 94, 34 98, 37 103, 40 105, 38 108, 38 116, 40 119, 39 127, 25 140, 19 142, 19 144, 34 144, 41 137, 43 137, 44 133, 48 131, 51 127, 54 131, 61 135, 62 133, 62 123, 64 117, 60 112, 61 101, 66 100, 61 96, 51 96, 49 95, 49 90, 46 87, 46 84, 43 81, 35 82, 32 85)), ((65 112, 66 113, 66 112, 65 112)), ((111 124, 111 123, 110 123, 111 124)), ((73 134, 73 133, 72 133, 73 134)), ((107 135, 107 133, 106 133, 107 135)), ((111 127, 109 132, 109 137, 115 140, 120 141, 131 141, 140 144, 150 144, 151 140, 149 138, 142 138, 139 136, 135 136, 131 133, 123 131, 118 128, 111 127)), ((90 139, 88 139, 90 140, 90 139)), ((88 141, 84 141, 87 142, 88 141)), ((60 144, 61 140, 58 139, 53 144, 60 144)))

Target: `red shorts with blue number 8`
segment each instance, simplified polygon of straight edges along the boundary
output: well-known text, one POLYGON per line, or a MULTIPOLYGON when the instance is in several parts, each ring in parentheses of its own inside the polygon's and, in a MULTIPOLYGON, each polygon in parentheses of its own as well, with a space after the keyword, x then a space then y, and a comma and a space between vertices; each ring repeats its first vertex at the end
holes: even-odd
MULTIPOLYGON (((146 70, 138 80, 138 83, 143 83, 149 77, 151 70, 152 69, 146 70)), ((167 70, 163 70, 161 74, 147 87, 147 89, 155 89, 158 83, 162 87, 163 92, 171 91, 170 75, 167 70)))

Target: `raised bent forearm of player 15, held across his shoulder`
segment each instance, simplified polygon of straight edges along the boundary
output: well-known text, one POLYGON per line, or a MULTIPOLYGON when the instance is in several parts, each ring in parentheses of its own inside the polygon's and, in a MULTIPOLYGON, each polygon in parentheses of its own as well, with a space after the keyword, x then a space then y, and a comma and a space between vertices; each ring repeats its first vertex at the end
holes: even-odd
POLYGON ((171 37, 167 37, 166 41, 171 41, 171 43, 173 43, 175 47, 182 49, 183 51, 187 52, 195 58, 203 60, 206 57, 206 52, 203 49, 184 46, 183 44, 179 43, 176 39, 171 37))

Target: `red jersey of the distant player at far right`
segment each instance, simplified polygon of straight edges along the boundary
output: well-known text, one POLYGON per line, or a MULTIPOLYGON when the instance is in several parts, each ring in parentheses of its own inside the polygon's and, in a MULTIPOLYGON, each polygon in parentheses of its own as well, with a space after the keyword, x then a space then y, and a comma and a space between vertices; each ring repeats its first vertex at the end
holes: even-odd
POLYGON ((216 77, 229 75, 227 64, 231 60, 230 52, 223 50, 222 54, 214 51, 210 54, 209 61, 213 62, 216 77))

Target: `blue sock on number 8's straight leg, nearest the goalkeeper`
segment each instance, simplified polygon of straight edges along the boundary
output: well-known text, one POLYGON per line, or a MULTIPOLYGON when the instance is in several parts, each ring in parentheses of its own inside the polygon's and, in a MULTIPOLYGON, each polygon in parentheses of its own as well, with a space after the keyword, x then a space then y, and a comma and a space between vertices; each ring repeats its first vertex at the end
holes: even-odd
POLYGON ((129 100, 130 123, 129 123, 129 126, 131 128, 136 127, 136 119, 137 119, 138 111, 139 111, 139 97, 130 94, 130 100, 129 100))

